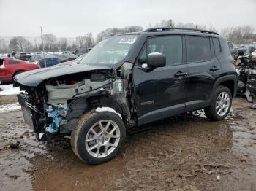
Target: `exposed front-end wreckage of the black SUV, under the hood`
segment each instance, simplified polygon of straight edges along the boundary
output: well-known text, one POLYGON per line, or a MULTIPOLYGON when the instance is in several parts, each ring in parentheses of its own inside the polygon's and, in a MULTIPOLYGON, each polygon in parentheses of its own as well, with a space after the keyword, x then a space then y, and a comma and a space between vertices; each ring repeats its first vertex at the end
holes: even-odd
POLYGON ((34 128, 37 139, 44 140, 48 135, 71 133, 84 113, 107 106, 132 126, 135 122, 130 111, 135 109, 131 103, 131 69, 132 63, 124 63, 117 70, 54 77, 37 87, 18 84, 26 91, 18 95, 25 122, 34 128))

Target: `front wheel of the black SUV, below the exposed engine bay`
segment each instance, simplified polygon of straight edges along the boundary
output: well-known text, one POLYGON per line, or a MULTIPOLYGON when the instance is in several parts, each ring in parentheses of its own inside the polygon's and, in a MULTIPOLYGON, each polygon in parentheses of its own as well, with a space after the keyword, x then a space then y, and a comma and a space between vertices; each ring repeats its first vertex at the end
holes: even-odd
POLYGON ((84 163, 97 165, 116 157, 125 136, 121 117, 113 112, 92 110, 84 114, 72 130, 71 146, 84 163))

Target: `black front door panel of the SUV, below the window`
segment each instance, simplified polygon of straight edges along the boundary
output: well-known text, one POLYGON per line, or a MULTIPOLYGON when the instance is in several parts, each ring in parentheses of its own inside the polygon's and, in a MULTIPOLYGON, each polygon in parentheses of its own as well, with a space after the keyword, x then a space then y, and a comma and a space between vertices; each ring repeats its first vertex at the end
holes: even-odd
POLYGON ((138 106, 138 125, 185 111, 187 77, 175 77, 187 72, 187 65, 165 66, 146 72, 135 66, 133 79, 138 106))

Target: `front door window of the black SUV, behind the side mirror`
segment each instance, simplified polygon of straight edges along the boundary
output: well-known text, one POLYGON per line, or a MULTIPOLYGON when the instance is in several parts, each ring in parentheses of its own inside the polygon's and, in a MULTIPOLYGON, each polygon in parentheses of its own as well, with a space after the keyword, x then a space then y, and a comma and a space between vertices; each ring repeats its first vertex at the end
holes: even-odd
POLYGON ((166 56, 166 66, 182 63, 181 36, 158 36, 148 39, 147 53, 160 52, 166 56))

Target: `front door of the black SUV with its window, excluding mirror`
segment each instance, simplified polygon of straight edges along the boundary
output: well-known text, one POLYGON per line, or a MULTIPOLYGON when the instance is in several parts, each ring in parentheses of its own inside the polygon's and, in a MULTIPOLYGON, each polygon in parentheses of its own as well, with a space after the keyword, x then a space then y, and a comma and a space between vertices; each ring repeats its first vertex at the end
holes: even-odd
POLYGON ((182 36, 148 38, 133 69, 138 125, 184 112, 187 94, 187 64, 184 64, 182 36), (145 71, 147 55, 166 55, 166 66, 145 71))

